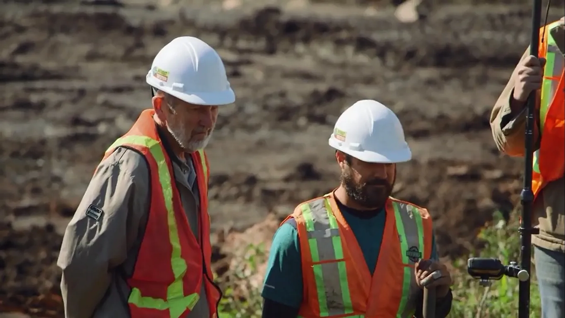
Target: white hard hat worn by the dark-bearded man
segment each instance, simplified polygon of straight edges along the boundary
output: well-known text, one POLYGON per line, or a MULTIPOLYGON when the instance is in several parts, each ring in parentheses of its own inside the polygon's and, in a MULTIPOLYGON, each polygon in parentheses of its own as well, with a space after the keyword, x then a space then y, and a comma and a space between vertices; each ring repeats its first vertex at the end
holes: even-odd
POLYGON ((365 162, 392 164, 412 158, 396 114, 373 100, 358 101, 340 115, 329 145, 365 162))

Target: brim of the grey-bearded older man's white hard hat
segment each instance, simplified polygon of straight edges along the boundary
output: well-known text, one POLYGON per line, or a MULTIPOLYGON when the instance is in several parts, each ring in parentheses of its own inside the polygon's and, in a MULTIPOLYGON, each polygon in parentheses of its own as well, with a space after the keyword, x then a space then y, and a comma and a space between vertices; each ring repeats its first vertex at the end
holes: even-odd
POLYGON ((194 105, 228 105, 236 101, 236 94, 233 92, 232 88, 228 88, 221 92, 192 92, 184 93, 171 89, 170 87, 165 87, 159 85, 161 82, 159 80, 153 80, 152 76, 147 76, 147 84, 151 85, 159 91, 163 91, 167 94, 171 94, 182 101, 188 102, 194 105))

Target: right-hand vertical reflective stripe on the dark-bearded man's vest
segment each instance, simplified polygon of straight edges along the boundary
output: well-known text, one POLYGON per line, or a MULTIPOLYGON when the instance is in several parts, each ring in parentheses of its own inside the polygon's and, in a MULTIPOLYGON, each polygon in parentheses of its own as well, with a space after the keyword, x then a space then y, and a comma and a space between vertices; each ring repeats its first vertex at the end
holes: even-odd
POLYGON ((416 310, 416 296, 420 288, 416 285, 414 264, 424 257, 424 226, 420 212, 414 205, 393 201, 394 218, 400 240, 404 277, 402 299, 397 318, 412 317, 416 310), (410 267, 412 266, 412 267, 410 267))

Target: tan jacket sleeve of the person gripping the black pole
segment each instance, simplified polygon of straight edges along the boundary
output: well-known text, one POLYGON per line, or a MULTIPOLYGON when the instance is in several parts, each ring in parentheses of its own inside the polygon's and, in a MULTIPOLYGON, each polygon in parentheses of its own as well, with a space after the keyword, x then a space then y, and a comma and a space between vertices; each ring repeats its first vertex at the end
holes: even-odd
MULTIPOLYGON (((529 55, 529 47, 524 52, 520 61, 529 55)), ((492 112, 490 113, 490 128, 493 133, 494 142, 499 151, 512 157, 524 156, 524 137, 526 123, 526 109, 519 113, 512 113, 510 103, 514 94, 514 81, 516 80, 516 69, 512 71, 510 80, 498 97, 492 112)), ((534 144, 537 144, 537 122, 534 127, 534 144)))

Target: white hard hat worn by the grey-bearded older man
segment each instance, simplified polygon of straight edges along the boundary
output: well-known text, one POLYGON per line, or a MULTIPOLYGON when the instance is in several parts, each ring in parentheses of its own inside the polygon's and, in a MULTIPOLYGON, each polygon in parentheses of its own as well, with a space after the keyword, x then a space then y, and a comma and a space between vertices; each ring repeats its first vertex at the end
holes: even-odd
POLYGON ((147 73, 147 84, 190 104, 226 105, 236 100, 220 55, 192 36, 165 45, 147 73))

